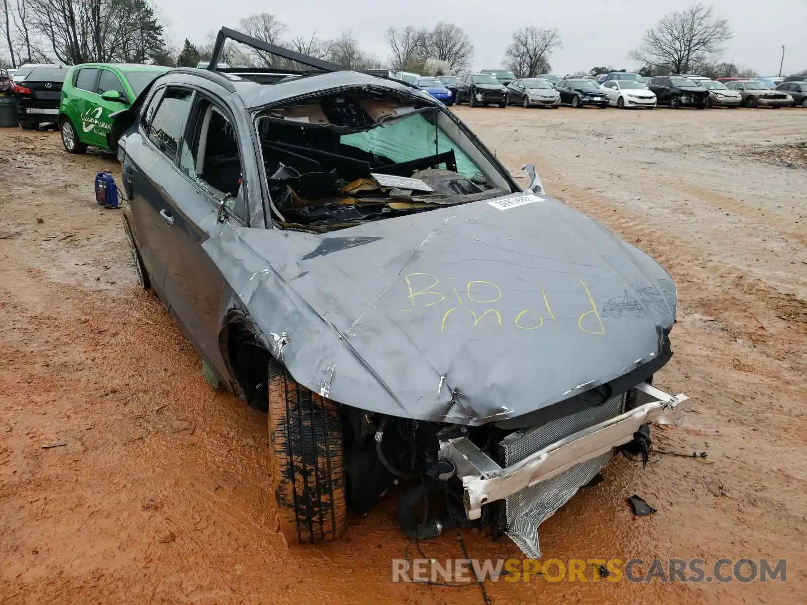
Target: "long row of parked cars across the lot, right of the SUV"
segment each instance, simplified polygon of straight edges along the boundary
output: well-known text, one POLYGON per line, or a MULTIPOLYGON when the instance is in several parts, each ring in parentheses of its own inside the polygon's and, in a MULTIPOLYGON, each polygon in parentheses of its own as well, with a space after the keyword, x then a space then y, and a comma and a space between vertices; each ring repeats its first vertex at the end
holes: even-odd
POLYGON ((615 72, 596 78, 554 74, 516 78, 505 69, 486 69, 462 76, 420 77, 399 72, 392 77, 426 90, 446 105, 467 102, 472 107, 807 107, 807 77, 803 76, 711 80, 688 74, 642 77, 638 73, 615 72))

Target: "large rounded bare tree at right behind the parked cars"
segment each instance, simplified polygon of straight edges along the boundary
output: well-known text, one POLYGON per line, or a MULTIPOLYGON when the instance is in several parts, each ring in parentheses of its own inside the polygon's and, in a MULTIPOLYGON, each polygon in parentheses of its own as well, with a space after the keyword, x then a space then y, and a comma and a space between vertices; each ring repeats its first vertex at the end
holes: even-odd
POLYGON ((730 38, 728 21, 716 19, 711 6, 697 2, 660 19, 630 58, 668 73, 688 73, 718 55, 730 38))

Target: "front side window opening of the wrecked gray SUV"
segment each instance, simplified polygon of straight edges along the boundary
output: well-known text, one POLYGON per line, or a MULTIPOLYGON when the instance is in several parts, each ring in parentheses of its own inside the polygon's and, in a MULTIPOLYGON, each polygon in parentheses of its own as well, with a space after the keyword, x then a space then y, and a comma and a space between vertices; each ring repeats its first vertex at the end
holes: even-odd
POLYGON ((216 201, 246 219, 241 157, 236 128, 226 112, 207 98, 194 106, 193 125, 182 141, 179 168, 216 201))

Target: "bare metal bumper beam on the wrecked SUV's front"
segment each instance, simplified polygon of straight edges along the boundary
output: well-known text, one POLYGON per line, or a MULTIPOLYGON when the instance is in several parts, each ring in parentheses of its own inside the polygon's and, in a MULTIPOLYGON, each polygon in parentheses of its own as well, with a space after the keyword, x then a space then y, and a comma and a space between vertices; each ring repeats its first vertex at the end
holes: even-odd
POLYGON ((440 457, 454 462, 462 480, 468 519, 479 519, 484 504, 507 498, 628 443, 642 424, 675 424, 683 415, 680 403, 688 399, 687 395, 672 395, 646 382, 633 388, 650 402, 557 440, 504 469, 467 437, 441 441, 440 457))

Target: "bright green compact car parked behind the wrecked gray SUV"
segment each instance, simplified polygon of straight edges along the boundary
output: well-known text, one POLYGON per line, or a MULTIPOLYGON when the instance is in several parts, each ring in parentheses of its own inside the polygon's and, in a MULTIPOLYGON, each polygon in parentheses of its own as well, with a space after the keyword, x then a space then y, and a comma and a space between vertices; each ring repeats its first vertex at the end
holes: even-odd
POLYGON ((158 75, 170 68, 128 63, 83 63, 71 67, 61 88, 59 129, 70 153, 88 145, 108 149, 111 114, 126 109, 158 75))

